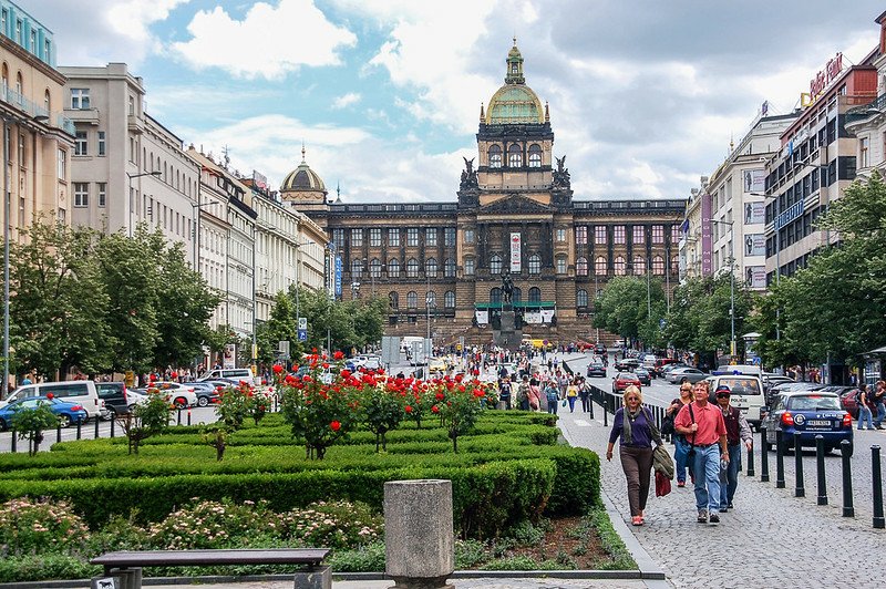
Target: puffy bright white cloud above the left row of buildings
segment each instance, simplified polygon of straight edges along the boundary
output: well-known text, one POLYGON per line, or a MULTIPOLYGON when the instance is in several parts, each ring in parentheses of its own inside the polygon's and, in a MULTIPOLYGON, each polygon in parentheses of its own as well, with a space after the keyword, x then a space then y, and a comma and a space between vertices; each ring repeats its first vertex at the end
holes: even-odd
POLYGON ((199 11, 187 27, 192 38, 172 44, 192 68, 219 68, 236 78, 279 80, 302 65, 339 65, 341 48, 357 37, 337 27, 311 0, 254 4, 243 20, 224 8, 199 11))

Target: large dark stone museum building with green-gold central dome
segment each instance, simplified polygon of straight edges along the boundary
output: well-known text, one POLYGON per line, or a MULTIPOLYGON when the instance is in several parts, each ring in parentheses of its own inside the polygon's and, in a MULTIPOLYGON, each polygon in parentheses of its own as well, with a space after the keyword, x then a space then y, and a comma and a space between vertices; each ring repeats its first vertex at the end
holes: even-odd
POLYGON ((524 337, 593 342, 595 292, 611 277, 678 281, 686 200, 574 200, 548 105, 526 85, 516 43, 506 63, 505 84, 481 106, 477 163, 465 159, 457 200, 331 203, 303 161, 281 183, 284 202, 329 235, 337 296, 388 297, 389 334, 491 342, 509 271, 524 337))

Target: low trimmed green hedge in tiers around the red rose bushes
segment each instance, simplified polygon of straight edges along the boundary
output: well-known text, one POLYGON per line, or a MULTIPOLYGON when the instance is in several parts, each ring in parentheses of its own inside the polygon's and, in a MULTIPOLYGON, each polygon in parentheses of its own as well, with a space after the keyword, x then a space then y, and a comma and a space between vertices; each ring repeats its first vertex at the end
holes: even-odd
POLYGON ((435 423, 412 424, 388 436, 356 432, 323 461, 305 458, 279 415, 230 435, 223 462, 195 427, 175 427, 128 455, 123 438, 65 442, 34 457, 0 456, 0 500, 55 497, 73 503, 97 527, 136 510, 157 521, 194 497, 265 499, 276 510, 342 498, 382 508, 384 483, 447 478, 453 483, 456 527, 465 537, 490 537, 524 519, 575 515, 599 503, 599 458, 557 445, 555 418, 522 412, 486 412, 452 452, 435 423), (267 422, 267 423, 265 423, 267 422))

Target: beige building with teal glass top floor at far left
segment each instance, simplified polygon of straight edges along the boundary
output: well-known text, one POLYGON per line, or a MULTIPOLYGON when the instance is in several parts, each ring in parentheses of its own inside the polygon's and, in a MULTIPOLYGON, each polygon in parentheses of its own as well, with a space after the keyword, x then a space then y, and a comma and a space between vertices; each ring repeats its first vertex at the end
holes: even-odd
POLYGON ((0 1, 0 117, 7 133, 3 183, 11 239, 34 218, 70 221, 74 128, 62 115, 64 76, 48 30, 18 6, 0 1), (8 172, 7 172, 8 170, 8 172))

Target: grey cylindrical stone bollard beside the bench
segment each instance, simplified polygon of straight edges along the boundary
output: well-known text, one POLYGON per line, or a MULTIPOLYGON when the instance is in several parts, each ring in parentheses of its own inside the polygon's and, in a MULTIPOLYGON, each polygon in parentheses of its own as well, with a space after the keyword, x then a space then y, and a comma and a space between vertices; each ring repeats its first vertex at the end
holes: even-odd
POLYGON ((384 484, 384 554, 391 589, 454 589, 452 480, 384 484))

